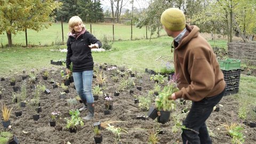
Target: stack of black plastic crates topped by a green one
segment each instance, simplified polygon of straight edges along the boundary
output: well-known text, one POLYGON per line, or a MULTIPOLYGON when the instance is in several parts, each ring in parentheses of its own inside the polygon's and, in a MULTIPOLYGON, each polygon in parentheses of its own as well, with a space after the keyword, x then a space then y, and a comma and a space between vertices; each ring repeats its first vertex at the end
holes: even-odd
POLYGON ((241 75, 241 62, 235 59, 218 60, 220 69, 226 82, 226 92, 224 95, 238 93, 241 75))

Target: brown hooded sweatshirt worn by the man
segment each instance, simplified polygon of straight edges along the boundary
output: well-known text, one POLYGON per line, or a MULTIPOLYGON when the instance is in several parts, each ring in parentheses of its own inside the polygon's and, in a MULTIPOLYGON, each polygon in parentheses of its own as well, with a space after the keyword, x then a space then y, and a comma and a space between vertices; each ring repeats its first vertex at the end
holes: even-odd
POLYGON ((177 98, 200 101, 225 89, 223 73, 210 44, 197 26, 186 26, 180 43, 174 43, 175 73, 179 75, 177 98))

